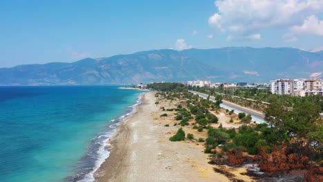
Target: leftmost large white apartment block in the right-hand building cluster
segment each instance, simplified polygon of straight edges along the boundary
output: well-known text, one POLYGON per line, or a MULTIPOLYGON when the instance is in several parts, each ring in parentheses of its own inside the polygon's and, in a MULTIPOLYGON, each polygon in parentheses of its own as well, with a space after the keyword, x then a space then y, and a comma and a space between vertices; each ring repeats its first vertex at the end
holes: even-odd
POLYGON ((269 88, 273 94, 292 94, 293 82, 290 79, 277 79, 271 81, 269 88))

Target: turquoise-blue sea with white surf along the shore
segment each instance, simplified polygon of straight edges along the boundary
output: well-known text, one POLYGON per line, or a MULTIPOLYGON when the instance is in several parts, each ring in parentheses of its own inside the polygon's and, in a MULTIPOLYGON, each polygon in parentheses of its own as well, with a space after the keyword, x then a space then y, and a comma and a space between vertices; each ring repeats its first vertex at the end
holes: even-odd
POLYGON ((1 86, 0 181, 94 181, 143 94, 118 88, 1 86))

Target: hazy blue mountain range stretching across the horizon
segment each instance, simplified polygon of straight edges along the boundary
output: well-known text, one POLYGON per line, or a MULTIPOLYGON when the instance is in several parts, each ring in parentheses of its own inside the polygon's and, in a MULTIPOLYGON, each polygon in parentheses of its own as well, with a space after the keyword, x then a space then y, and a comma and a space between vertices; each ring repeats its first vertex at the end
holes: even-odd
POLYGON ((0 85, 106 85, 211 80, 266 83, 323 76, 323 51, 295 48, 149 50, 74 63, 0 68, 0 85))

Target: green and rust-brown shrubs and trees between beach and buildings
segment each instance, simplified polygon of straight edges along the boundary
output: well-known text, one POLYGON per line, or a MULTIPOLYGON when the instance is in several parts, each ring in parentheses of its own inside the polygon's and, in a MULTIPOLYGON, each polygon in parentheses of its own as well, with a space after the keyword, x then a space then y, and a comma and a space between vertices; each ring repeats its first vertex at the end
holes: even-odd
MULTIPOLYGON (((260 164, 260 168, 269 175, 293 169, 312 169, 312 163, 323 165, 323 125, 319 115, 322 108, 315 103, 316 97, 313 97, 313 100, 309 99, 311 97, 293 100, 294 97, 277 97, 256 89, 252 91, 240 90, 243 94, 250 92, 250 97, 255 91, 267 99, 270 104, 266 104, 262 108, 266 123, 255 126, 248 125, 251 122, 251 115, 242 112, 238 114, 238 118, 244 125, 237 129, 226 129, 222 125, 219 125, 218 128, 211 126, 212 123, 218 121, 212 113, 214 110, 217 112, 222 99, 232 101, 230 99, 233 97, 216 94, 215 90, 212 91, 211 88, 193 88, 215 96, 216 102, 213 103, 209 99, 202 99, 187 92, 192 88, 187 89, 181 84, 159 84, 154 87, 162 90, 170 88, 170 90, 159 92, 159 95, 166 99, 171 101, 181 99, 177 108, 167 110, 176 111, 175 120, 179 121, 180 125, 188 126, 188 122, 191 122, 193 129, 207 132, 208 137, 206 139, 199 138, 198 141, 205 142, 204 152, 214 154, 212 156, 222 157, 225 155, 229 163, 238 165, 246 161, 244 152, 248 152, 248 154, 255 155, 254 159, 260 164), (265 96, 265 93, 268 95, 265 96), (282 101, 282 99, 293 101, 293 104, 286 103, 287 101, 282 101)), ((225 88, 220 89, 225 90, 225 88)), ((239 92, 237 91, 237 93, 239 92)), ((244 100, 241 103, 248 106, 248 102, 244 100)), ((227 110, 227 112, 233 114, 234 110, 227 110)), ((230 122, 233 122, 233 118, 230 119, 230 122)), ((194 139, 194 136, 188 134, 187 138, 194 139)), ((170 137, 170 141, 183 141, 184 139, 185 133, 182 128, 179 128, 177 133, 170 137)), ((320 170, 313 168, 313 170, 309 170, 306 178, 311 179, 319 173, 320 170)))

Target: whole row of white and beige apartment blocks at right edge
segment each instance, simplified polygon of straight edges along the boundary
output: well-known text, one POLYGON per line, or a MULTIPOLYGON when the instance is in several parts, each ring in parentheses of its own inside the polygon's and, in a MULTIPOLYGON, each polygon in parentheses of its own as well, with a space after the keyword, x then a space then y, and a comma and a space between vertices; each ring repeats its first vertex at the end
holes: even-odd
POLYGON ((276 79, 269 85, 273 94, 293 94, 300 97, 312 94, 323 95, 322 79, 276 79))

